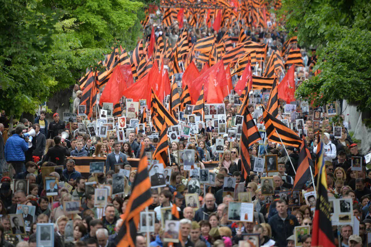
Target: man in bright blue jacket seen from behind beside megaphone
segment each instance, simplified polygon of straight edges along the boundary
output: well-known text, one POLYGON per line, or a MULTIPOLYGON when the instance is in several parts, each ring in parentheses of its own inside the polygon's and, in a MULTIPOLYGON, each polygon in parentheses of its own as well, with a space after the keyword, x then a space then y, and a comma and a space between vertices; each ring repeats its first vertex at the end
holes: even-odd
POLYGON ((5 160, 10 163, 17 173, 26 171, 24 168, 24 152, 28 150, 28 143, 21 137, 22 127, 17 127, 15 133, 10 136, 5 144, 5 160))

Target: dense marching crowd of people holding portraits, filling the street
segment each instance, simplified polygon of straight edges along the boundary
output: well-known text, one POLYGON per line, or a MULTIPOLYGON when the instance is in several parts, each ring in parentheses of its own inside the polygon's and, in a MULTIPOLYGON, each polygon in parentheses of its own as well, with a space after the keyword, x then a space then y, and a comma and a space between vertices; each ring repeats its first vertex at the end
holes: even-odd
MULTIPOLYGON (((277 28, 283 24, 276 23, 278 20, 274 14, 270 17, 267 28, 243 24, 214 31, 206 23, 197 28, 188 26, 186 20, 183 25, 189 29, 188 40, 192 44, 212 35, 219 41, 225 33, 229 37, 238 37, 240 28, 243 28, 252 41, 267 44, 268 60, 273 51, 282 51, 288 38, 285 31, 277 28)), ((155 26, 156 38, 162 36, 173 47, 183 30, 177 21, 171 26, 163 26, 161 17, 157 21, 153 18, 144 28, 145 36, 150 36, 152 26, 155 26)), ((301 49, 305 66, 296 68, 296 87, 313 75, 309 65, 315 57, 315 50, 311 53, 309 56, 305 48, 301 49)), ((202 62, 197 62, 197 67, 201 70, 202 62)), ((263 72, 259 66, 253 70, 254 75, 263 72)), ((279 72, 277 76, 282 79, 283 73, 279 72)), ((300 150, 266 138, 262 122, 262 105, 267 104, 265 93, 266 90, 253 90, 252 101, 247 105, 262 137, 261 141, 249 147, 251 167, 247 175, 242 173, 243 154, 238 130, 242 121, 238 120, 240 116, 237 113, 241 101, 236 100, 239 95, 232 93, 233 97, 229 95, 223 103, 205 105, 205 112, 215 111, 212 118, 179 116, 179 131, 174 130, 174 138, 170 133, 168 135, 169 158, 163 164, 165 169, 161 164, 156 165, 158 160, 150 160, 148 164, 153 203, 148 207, 148 213, 141 213, 136 247, 311 246, 316 183, 313 184, 311 177, 302 188, 292 190, 300 165, 300 150), (261 100, 257 101, 259 98, 261 100), (194 134, 181 135, 181 128, 193 123, 200 124, 194 127, 194 134), (225 126, 224 131, 221 131, 222 126, 225 126), (249 205, 252 205, 251 211, 246 209, 249 205), (178 219, 171 212, 173 207, 178 211, 178 219)), ((72 112, 78 113, 81 95, 82 91, 76 85, 72 112)), ((126 102, 123 97, 122 116, 128 116, 126 102)), ((285 102, 279 102, 280 119, 298 134, 304 132, 313 164, 318 158, 319 143, 323 142, 329 199, 349 199, 351 202, 351 205, 341 204, 340 210, 347 212, 352 208, 353 212, 349 213, 351 218, 355 217, 344 221, 347 223, 333 225, 335 244, 342 247, 367 246, 371 233, 371 169, 367 168, 370 150, 359 152, 359 143, 354 142, 348 133, 345 116, 339 109, 333 110, 336 104, 315 107, 298 99, 291 105, 295 105, 294 110, 288 111, 285 102), (335 121, 334 116, 340 116, 340 120, 335 121), (341 128, 335 131, 338 127, 341 128), (354 223, 356 218, 358 224, 354 223), (359 229, 354 229, 355 226, 359 229)), ((112 127, 119 124, 118 116, 112 116, 111 112, 105 114, 111 115, 112 127)), ((127 203, 137 175, 133 160, 141 157, 142 146, 152 159, 160 142, 160 133, 151 124, 150 115, 148 111, 144 128, 122 129, 125 140, 121 141, 115 127, 101 136, 101 126, 97 124, 100 117, 95 108, 91 119, 77 114, 73 121, 64 121, 59 113, 54 113, 52 121, 48 121, 49 114, 41 111, 35 119, 22 118, 13 123, 2 111, 0 246, 36 247, 37 241, 48 240, 54 247, 116 246, 123 223, 120 216, 128 210, 127 203), (96 135, 86 131, 89 126, 94 126, 96 135), (104 170, 86 172, 77 164, 81 159, 89 162, 104 160, 104 170), (116 186, 114 179, 121 173, 125 174, 124 183, 113 187, 116 186), (47 183, 46 177, 49 179, 47 183), (49 183, 51 178, 58 184, 49 183), (93 192, 89 186, 93 186, 93 192), (107 197, 104 193, 94 193, 94 189, 102 188, 110 188, 107 197), (55 194, 51 195, 54 190, 55 194), (120 192, 113 193, 115 190, 120 192), (104 206, 98 203, 102 201, 104 206), (79 203, 79 207, 70 208, 72 213, 64 208, 70 206, 69 202, 79 203), (38 225, 46 223, 53 223, 53 233, 39 232, 38 225)), ((126 121, 129 126, 130 119, 126 121)), ((315 170, 313 166, 313 175, 315 170)))

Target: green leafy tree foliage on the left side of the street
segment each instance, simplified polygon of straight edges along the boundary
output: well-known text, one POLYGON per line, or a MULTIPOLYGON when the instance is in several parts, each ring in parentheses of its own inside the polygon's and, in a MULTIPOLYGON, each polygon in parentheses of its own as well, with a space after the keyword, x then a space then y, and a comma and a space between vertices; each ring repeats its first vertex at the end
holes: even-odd
POLYGON ((0 109, 34 112, 113 45, 131 50, 143 4, 130 0, 1 0, 0 109))

